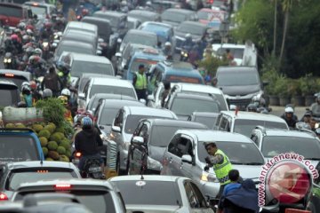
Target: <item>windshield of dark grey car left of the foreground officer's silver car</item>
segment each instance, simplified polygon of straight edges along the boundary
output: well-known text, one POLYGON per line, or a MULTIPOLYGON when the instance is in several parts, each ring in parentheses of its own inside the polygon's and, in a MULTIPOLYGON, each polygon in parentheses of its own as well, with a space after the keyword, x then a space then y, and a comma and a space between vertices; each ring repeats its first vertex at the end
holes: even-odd
POLYGON ((171 141, 175 131, 180 129, 196 130, 196 129, 199 129, 199 126, 196 126, 196 125, 191 126, 190 124, 188 125, 180 124, 179 126, 154 126, 154 128, 152 129, 151 138, 148 144, 151 146, 166 147, 171 141))

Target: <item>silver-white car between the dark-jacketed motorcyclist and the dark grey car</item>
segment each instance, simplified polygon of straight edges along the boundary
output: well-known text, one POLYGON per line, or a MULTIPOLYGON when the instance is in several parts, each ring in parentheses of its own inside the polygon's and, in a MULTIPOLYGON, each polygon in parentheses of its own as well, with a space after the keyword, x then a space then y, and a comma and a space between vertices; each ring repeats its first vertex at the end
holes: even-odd
POLYGON ((145 106, 124 106, 119 109, 112 124, 108 140, 116 142, 116 171, 124 175, 127 168, 128 150, 134 130, 143 118, 167 118, 177 120, 177 115, 167 109, 145 106))

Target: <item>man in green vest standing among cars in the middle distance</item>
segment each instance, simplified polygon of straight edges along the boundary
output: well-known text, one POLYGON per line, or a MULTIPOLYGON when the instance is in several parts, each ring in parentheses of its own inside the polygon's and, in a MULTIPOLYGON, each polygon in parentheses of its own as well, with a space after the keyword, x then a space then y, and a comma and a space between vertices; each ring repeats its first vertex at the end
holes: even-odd
POLYGON ((147 75, 145 74, 145 67, 143 64, 139 65, 139 71, 133 75, 132 82, 138 99, 145 99, 147 101, 147 75))

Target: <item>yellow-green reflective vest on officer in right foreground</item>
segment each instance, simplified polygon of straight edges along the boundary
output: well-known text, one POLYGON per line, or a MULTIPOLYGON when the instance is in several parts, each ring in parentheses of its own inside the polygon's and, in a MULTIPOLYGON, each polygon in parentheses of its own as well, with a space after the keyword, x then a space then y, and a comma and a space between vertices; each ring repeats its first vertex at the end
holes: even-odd
POLYGON ((229 170, 232 170, 231 162, 228 160, 228 156, 224 154, 220 149, 214 154, 221 154, 223 156, 223 162, 220 164, 213 165, 213 170, 218 178, 220 185, 226 185, 230 183, 228 178, 229 170))

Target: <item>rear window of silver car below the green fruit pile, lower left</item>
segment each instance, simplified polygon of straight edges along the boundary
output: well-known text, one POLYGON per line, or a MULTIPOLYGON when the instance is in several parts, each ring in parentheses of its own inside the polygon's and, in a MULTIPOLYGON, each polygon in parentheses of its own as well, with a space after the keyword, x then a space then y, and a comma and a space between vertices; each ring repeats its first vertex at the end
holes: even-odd
POLYGON ((16 191, 20 184, 34 182, 35 180, 52 180, 59 178, 72 178, 76 174, 72 170, 50 170, 50 168, 38 168, 37 170, 13 170, 7 179, 7 190, 16 191))

